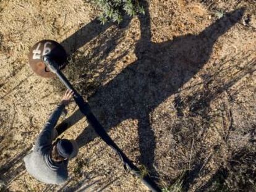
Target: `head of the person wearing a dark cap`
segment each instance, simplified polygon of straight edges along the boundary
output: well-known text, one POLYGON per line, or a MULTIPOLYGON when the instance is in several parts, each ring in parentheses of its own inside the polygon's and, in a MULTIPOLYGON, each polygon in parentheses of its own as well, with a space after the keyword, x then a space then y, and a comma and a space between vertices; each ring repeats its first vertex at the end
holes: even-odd
POLYGON ((53 150, 51 151, 51 159, 55 162, 61 162, 66 159, 71 159, 77 154, 77 147, 74 141, 67 139, 58 139, 53 144, 53 150))

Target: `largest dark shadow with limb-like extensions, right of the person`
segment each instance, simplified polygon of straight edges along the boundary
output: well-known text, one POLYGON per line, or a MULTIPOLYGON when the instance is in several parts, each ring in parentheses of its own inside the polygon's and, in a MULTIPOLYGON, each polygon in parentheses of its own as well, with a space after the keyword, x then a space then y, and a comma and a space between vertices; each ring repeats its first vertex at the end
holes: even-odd
MULTIPOLYGON (((107 131, 124 120, 138 120, 140 162, 151 175, 158 176, 153 166, 156 140, 150 127, 151 112, 202 69, 215 41, 242 18, 244 9, 229 12, 199 35, 152 43, 148 4, 143 4, 145 15, 139 17, 141 38, 135 49, 137 61, 101 86, 88 102, 92 111, 104 114, 101 123, 107 131)), ((78 110, 58 127, 69 128, 82 117, 78 110)), ((87 127, 77 137, 77 142, 82 147, 96 136, 92 127, 87 127)))

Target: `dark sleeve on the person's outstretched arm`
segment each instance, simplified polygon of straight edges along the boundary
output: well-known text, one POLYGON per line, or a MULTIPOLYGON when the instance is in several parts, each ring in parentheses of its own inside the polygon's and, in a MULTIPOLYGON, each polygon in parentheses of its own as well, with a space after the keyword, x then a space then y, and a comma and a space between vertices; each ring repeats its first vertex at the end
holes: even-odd
POLYGON ((61 116, 61 112, 64 109, 64 104, 59 104, 53 111, 48 121, 45 123, 45 127, 41 130, 38 138, 36 139, 34 151, 43 152, 45 146, 51 145, 54 137, 56 137, 56 130, 54 129, 56 123, 61 116))

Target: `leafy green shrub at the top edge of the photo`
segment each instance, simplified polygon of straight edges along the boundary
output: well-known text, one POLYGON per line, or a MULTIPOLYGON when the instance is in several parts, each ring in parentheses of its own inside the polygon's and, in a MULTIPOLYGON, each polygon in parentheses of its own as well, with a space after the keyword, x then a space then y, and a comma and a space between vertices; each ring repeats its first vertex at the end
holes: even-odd
POLYGON ((137 14, 145 14, 138 0, 92 0, 102 11, 100 15, 101 23, 109 20, 120 23, 124 14, 134 17, 137 14))

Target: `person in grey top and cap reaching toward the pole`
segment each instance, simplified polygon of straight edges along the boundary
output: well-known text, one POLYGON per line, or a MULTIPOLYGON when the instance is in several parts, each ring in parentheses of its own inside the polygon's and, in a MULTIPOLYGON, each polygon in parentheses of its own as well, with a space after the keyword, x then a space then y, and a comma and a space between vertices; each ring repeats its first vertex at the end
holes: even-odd
POLYGON ((55 125, 73 95, 71 90, 66 91, 38 135, 32 152, 23 158, 28 173, 40 182, 57 185, 64 183, 68 179, 67 164, 77 156, 79 148, 74 140, 58 138, 54 141, 58 136, 55 125))

